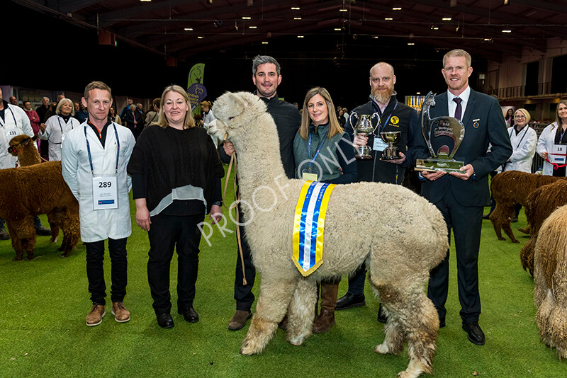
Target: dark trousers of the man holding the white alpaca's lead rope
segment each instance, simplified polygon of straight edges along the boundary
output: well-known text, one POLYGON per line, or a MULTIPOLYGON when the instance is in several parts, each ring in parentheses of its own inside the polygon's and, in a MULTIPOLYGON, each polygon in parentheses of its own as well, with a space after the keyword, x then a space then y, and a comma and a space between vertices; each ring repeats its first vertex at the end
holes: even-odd
MULTIPOLYGON (((240 204, 237 207, 240 224, 245 223, 244 215, 240 209, 240 204)), ((250 311, 254 303, 254 294, 252 287, 254 287, 254 279, 256 278, 256 268, 252 264, 252 255, 250 254, 250 246, 246 241, 244 226, 240 227, 240 236, 242 236, 242 256, 244 256, 244 270, 245 274, 242 275, 242 261, 240 260, 240 253, 236 250, 236 274, 235 274, 235 300, 236 309, 240 311, 250 311), (242 283, 242 277, 246 277, 247 285, 242 283)))

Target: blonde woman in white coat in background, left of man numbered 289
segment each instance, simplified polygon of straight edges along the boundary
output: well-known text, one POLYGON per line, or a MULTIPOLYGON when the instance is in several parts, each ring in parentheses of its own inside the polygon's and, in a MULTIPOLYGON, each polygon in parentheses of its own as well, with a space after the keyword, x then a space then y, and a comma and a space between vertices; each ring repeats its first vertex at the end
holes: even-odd
POLYGON ((62 98, 57 104, 55 115, 48 118, 45 123, 40 124, 38 137, 49 141, 50 161, 61 160, 61 146, 67 132, 79 127, 79 120, 74 118, 74 115, 73 101, 69 98, 62 98))

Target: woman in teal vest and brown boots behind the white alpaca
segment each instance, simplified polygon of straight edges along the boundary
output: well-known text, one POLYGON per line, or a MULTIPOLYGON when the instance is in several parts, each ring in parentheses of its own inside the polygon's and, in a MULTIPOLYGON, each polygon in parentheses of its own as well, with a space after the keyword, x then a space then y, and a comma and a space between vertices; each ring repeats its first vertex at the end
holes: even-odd
MULTIPOLYGON (((329 92, 310 89, 303 101, 301 127, 293 140, 297 177, 305 181, 347 184, 357 180, 357 163, 348 133, 337 120, 329 92)), ((335 324, 339 280, 321 282, 321 310, 313 332, 324 333, 335 324)))

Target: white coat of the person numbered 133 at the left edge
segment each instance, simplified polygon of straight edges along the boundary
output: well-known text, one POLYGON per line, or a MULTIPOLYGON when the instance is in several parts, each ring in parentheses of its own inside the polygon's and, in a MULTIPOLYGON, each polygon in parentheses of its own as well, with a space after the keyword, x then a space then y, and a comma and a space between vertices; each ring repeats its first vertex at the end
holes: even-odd
POLYGON ((4 120, 0 118, 0 169, 16 167, 16 156, 8 152, 10 140, 16 135, 33 137, 30 118, 19 106, 4 102, 4 120), (6 107, 6 105, 8 105, 6 107), (14 122, 16 121, 16 122, 14 122))

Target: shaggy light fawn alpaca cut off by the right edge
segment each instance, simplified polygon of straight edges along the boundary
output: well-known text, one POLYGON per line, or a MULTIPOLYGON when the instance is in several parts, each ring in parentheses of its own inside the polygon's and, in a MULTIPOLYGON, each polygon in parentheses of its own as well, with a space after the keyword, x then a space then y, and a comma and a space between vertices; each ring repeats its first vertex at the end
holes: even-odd
POLYGON ((542 343, 567 358, 567 206, 541 225, 534 254, 534 303, 542 343))

